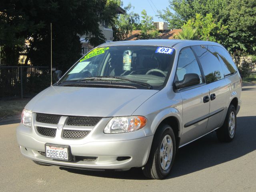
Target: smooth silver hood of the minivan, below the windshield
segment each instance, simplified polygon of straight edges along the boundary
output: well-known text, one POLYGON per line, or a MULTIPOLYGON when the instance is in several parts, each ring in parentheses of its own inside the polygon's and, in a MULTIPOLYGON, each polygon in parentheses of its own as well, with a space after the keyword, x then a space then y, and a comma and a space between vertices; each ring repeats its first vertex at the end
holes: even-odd
POLYGON ((51 86, 35 96, 26 109, 74 116, 129 116, 156 92, 158 90, 51 86))

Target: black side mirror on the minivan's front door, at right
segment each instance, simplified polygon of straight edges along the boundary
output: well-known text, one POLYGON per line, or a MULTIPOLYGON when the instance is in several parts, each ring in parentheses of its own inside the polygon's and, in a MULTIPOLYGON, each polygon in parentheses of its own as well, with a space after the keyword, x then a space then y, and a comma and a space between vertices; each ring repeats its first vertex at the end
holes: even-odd
POLYGON ((187 73, 184 75, 184 78, 182 81, 176 81, 174 83, 176 89, 189 87, 197 84, 200 84, 200 77, 198 74, 195 74, 195 73, 187 73))

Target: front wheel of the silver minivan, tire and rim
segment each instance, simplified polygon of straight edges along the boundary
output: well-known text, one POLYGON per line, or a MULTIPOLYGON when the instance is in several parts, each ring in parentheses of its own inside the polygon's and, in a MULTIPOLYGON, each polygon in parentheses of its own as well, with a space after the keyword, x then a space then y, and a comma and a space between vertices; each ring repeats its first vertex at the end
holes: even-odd
POLYGON ((142 168, 144 176, 152 179, 163 179, 168 176, 174 163, 175 154, 174 132, 169 125, 163 124, 154 136, 148 162, 142 168), (166 147, 170 151, 166 150, 166 147), (164 166, 165 162, 166 166, 164 166))

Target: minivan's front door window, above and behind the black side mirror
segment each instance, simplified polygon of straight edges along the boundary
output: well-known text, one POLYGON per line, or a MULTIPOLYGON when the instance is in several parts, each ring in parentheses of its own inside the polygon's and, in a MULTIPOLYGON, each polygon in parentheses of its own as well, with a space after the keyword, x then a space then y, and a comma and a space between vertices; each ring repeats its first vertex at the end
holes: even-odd
POLYGON ((202 75, 196 61, 196 57, 191 48, 184 48, 180 51, 176 76, 179 81, 184 79, 184 75, 188 73, 196 73, 200 77, 202 83, 202 75))

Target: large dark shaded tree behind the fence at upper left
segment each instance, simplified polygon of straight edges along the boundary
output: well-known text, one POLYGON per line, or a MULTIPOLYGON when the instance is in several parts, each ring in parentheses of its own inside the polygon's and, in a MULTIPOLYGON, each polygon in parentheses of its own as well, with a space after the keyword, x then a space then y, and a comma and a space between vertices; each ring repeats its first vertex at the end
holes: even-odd
POLYGON ((50 64, 50 23, 53 65, 67 70, 81 52, 80 36, 98 45, 105 38, 99 25, 114 23, 120 0, 3 0, 0 7, 0 46, 7 65, 14 53, 27 51, 34 65, 50 64), (29 44, 25 45, 27 40, 29 44))

